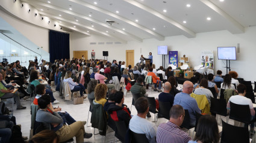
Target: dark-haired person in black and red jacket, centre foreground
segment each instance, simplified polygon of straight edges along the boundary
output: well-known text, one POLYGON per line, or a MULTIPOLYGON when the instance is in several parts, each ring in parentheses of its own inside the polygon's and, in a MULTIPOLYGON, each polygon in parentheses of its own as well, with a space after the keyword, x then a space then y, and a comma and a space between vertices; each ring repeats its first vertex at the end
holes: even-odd
POLYGON ((114 104, 108 106, 108 114, 114 121, 125 121, 126 127, 128 127, 131 120, 131 112, 127 109, 127 106, 122 106, 125 102, 123 92, 117 91, 112 96, 114 96, 114 104))

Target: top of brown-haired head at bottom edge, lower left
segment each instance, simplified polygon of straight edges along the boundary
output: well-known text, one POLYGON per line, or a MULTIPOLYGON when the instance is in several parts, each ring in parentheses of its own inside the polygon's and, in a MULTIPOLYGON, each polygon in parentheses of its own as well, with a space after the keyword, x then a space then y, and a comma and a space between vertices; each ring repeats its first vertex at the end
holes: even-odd
POLYGON ((42 130, 34 135, 30 141, 34 143, 58 143, 60 142, 60 137, 53 130, 42 130))

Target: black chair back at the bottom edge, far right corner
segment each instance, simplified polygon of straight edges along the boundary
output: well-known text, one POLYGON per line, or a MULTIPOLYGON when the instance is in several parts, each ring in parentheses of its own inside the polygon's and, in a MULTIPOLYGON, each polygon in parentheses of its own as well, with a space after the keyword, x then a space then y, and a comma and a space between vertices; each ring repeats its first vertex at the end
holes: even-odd
POLYGON ((245 142, 249 143, 249 130, 248 127, 237 127, 231 124, 225 123, 222 120, 222 135, 221 143, 228 142, 245 142))

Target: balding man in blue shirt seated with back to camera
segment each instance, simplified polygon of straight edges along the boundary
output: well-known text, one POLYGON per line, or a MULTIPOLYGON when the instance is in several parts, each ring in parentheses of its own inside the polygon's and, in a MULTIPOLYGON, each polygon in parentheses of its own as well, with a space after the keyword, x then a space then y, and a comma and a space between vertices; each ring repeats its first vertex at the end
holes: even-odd
POLYGON ((198 108, 198 103, 196 100, 190 97, 190 94, 193 91, 193 84, 190 81, 186 81, 183 84, 183 92, 176 94, 174 97, 173 105, 181 105, 184 110, 187 109, 189 111, 190 116, 190 125, 195 126, 196 124, 196 112, 201 114, 200 109, 198 108))

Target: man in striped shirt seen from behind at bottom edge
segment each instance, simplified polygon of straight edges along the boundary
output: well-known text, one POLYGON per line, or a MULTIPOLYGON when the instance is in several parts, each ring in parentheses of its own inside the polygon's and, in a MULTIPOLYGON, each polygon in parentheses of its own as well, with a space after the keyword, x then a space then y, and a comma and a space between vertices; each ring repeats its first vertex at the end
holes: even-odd
POLYGON ((185 112, 182 106, 173 105, 170 109, 170 120, 167 123, 161 123, 157 129, 157 142, 175 142, 187 143, 190 136, 181 130, 185 112))

